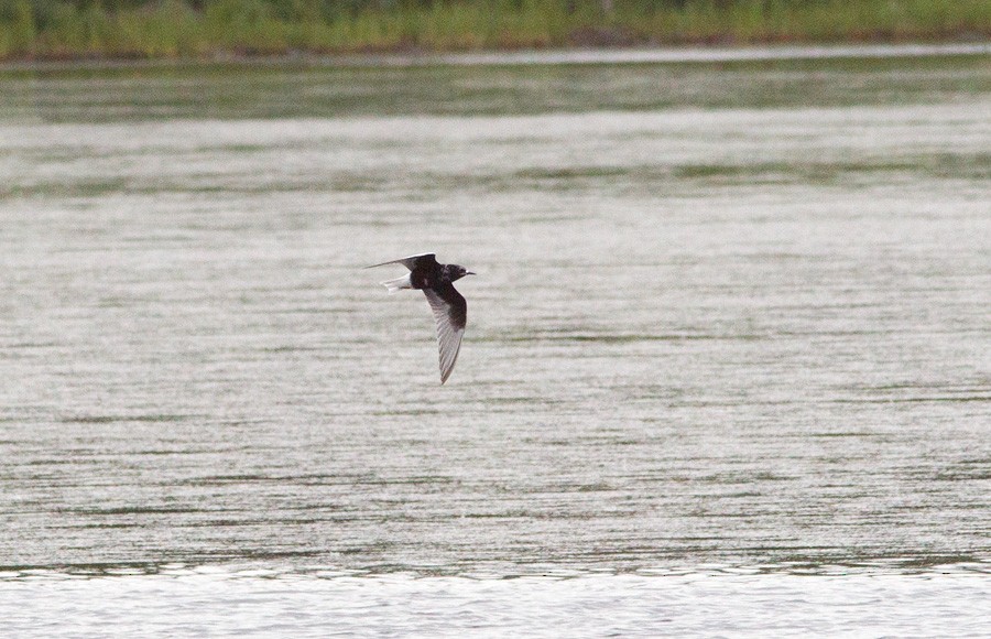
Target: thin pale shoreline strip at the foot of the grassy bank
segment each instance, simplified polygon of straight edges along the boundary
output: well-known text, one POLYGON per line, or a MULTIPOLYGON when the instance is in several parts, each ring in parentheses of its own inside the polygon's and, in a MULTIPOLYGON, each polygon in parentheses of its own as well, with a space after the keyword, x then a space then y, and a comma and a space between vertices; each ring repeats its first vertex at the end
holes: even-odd
POLYGON ((70 69, 253 67, 568 66, 593 64, 719 64, 774 61, 991 56, 991 40, 945 43, 765 44, 630 47, 560 47, 480 52, 392 52, 266 55, 228 54, 196 58, 83 57, 0 61, 0 73, 70 69))

